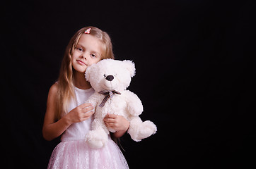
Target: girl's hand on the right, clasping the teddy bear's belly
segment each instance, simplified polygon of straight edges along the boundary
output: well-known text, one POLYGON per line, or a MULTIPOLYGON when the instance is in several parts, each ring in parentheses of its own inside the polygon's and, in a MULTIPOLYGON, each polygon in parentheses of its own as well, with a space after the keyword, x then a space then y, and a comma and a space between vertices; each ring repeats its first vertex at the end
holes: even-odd
POLYGON ((122 115, 107 114, 103 120, 107 127, 110 127, 117 132, 121 132, 122 135, 129 128, 129 121, 127 121, 122 115))

